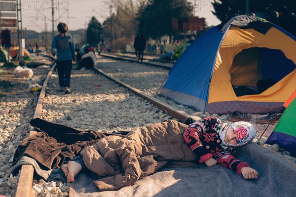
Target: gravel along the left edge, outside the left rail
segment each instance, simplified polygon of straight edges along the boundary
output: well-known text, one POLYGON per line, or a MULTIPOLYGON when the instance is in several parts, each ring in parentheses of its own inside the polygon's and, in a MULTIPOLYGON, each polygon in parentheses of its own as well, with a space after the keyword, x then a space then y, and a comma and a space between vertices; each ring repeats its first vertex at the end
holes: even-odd
MULTIPOLYGON (((13 70, 5 68, 0 77, 3 93, 0 97, 0 194, 6 197, 14 193, 18 180, 18 176, 12 177, 6 172, 16 147, 29 136, 29 121, 34 117, 39 96, 39 93, 28 91, 29 79, 14 78, 13 70)), ((41 84, 48 71, 41 67, 33 69, 33 81, 41 84)))

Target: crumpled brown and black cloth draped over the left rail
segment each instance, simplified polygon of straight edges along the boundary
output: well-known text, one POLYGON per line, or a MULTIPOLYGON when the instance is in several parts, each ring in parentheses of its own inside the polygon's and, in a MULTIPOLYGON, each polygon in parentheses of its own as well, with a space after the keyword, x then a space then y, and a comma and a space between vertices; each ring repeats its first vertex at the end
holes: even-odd
POLYGON ((120 132, 108 134, 93 130, 81 131, 40 118, 35 118, 30 123, 38 133, 25 138, 20 143, 15 151, 12 166, 23 156, 28 156, 35 158, 45 169, 53 169, 78 156, 84 147, 95 144, 103 137, 122 136, 120 132))

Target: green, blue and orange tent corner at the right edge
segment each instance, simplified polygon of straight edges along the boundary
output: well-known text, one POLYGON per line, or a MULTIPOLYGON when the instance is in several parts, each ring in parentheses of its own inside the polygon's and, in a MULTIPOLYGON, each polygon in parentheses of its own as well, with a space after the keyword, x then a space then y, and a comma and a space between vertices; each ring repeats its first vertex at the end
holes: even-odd
POLYGON ((278 121, 266 144, 278 144, 296 155, 296 90, 283 105, 286 110, 278 121))

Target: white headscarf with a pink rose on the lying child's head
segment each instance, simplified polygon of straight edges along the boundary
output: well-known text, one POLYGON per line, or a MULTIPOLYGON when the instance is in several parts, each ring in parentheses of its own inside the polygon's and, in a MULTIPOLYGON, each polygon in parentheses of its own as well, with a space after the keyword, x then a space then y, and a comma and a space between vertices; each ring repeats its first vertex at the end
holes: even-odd
POLYGON ((254 129, 254 126, 251 123, 239 121, 239 122, 233 122, 229 126, 227 125, 222 126, 222 132, 221 132, 220 138, 222 140, 222 144, 226 146, 238 147, 251 142, 256 137, 256 134, 257 133, 254 129), (234 129, 234 133, 236 135, 237 144, 235 145, 228 144, 227 142, 224 141, 226 132, 230 128, 234 129))

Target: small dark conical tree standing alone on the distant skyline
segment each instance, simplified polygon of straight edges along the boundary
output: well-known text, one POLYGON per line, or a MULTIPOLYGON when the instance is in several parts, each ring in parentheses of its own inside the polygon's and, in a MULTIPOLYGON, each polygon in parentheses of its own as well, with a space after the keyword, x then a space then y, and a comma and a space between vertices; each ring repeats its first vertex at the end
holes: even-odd
POLYGON ((86 31, 86 41, 87 43, 96 47, 101 40, 102 34, 102 25, 96 19, 96 17, 92 17, 88 23, 87 31, 86 31))

